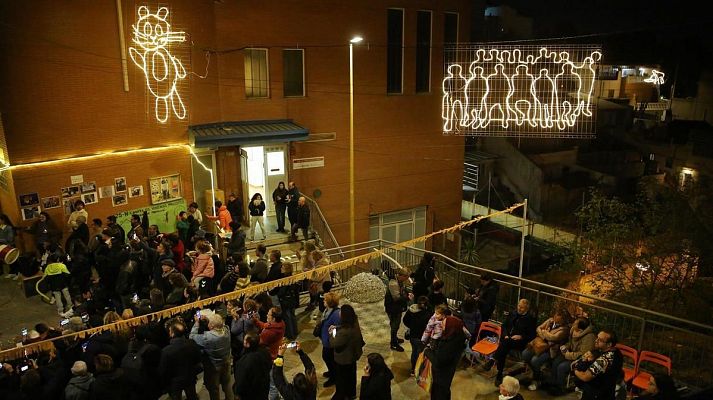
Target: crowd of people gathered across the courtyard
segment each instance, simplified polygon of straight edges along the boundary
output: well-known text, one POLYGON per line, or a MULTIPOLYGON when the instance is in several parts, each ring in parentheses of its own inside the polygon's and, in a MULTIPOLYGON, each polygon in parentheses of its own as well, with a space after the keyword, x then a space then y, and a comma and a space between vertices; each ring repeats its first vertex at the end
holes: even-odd
MULTIPOLYGON (((293 188, 290 183, 290 190, 293 188)), ((276 205, 282 201, 282 212, 289 212, 289 201, 284 201, 293 198, 287 194, 289 190, 282 185, 276 192, 276 205)), ((234 196, 229 199, 239 203, 234 196)), ((253 206, 258 212, 261 208, 256 200, 262 201, 261 196, 250 203, 252 238, 256 226, 263 229, 259 222, 252 222, 253 206)), ((305 207, 303 197, 298 197, 290 217, 293 235, 304 228, 300 207, 305 207)), ((262 209, 264 212, 264 206, 262 209)), ((59 327, 40 323, 23 332, 23 344, 274 281, 292 275, 295 268, 307 271, 329 264, 311 241, 297 253, 296 265, 283 262, 279 250, 268 252, 262 243, 256 246, 254 260, 246 262, 247 234, 237 222, 242 209, 231 210, 221 203, 216 204, 216 215, 206 218, 233 231, 225 260, 200 228, 203 216, 195 203, 179 215, 176 231, 168 234, 160 233, 156 225, 146 226, 148 221, 140 215, 131 217, 128 232, 113 216, 105 223, 94 219, 88 227, 86 210, 82 210, 79 206, 78 214, 70 216, 72 232, 65 247, 59 246, 61 235, 55 233, 49 215, 42 215, 28 228, 37 238, 44 291, 51 292, 49 301, 57 306, 62 321, 59 327), (235 219, 233 211, 238 213, 235 219)), ((279 230, 284 231, 284 223, 283 217, 279 230)), ((9 219, 0 215, 0 241, 8 240, 7 226, 12 226, 9 219)), ((307 236, 306 231, 304 234, 307 236)), ((419 356, 425 357, 432 365, 431 398, 450 399, 463 354, 482 339, 479 326, 496 308, 499 288, 493 276, 484 274, 481 285, 468 289, 454 309, 443 293, 444 284, 436 274, 431 253, 426 253, 413 271, 386 261, 372 272, 385 286, 391 350, 405 351, 402 345, 408 341, 411 375, 420 373, 419 356), (406 327, 403 338, 399 337, 402 325, 406 327)), ((167 393, 171 399, 183 395, 196 399, 202 373, 211 400, 220 399, 221 394, 226 399, 314 399, 320 378, 317 366, 297 340, 296 309, 304 306, 307 311, 319 307, 313 335, 322 347, 323 386, 335 387, 332 398, 390 399, 394 374, 382 355, 368 354, 363 371, 357 371, 366 344, 359 317, 350 304, 340 305, 339 292, 332 289, 332 275, 323 273, 135 328, 55 340, 56 351, 3 363, 0 398, 157 399, 167 393), (309 295, 306 304, 300 304, 301 292, 309 295), (284 359, 293 354, 299 357, 304 372, 288 379, 284 359)), ((532 370, 532 390, 547 388, 552 394, 562 394, 572 377, 583 399, 614 399, 623 362, 616 343, 614 332, 595 334, 586 316, 573 319, 564 309, 554 310, 551 318, 538 325, 529 302, 521 299, 517 309, 507 315, 498 348, 483 368, 497 367, 495 384, 502 400, 523 398, 518 380, 505 375, 505 361, 513 351, 521 353, 532 370), (549 366, 549 376, 543 373, 545 366, 549 366)), ((673 387, 670 377, 654 375, 651 381, 642 398, 675 399, 675 390, 674 395, 669 394, 673 387)))

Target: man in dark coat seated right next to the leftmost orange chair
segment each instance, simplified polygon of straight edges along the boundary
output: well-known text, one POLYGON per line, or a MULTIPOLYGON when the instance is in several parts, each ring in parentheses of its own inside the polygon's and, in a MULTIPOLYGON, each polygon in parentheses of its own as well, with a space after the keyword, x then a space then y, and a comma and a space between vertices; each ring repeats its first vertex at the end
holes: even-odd
POLYGON ((527 344, 535 337, 535 329, 537 321, 530 314, 530 302, 527 299, 520 299, 517 303, 517 312, 508 315, 502 329, 500 344, 493 355, 493 360, 485 364, 485 370, 490 370, 494 363, 497 363, 498 374, 495 377, 495 383, 500 384, 503 381, 503 369, 505 368, 505 359, 510 353, 510 350, 522 351, 527 347, 527 344))

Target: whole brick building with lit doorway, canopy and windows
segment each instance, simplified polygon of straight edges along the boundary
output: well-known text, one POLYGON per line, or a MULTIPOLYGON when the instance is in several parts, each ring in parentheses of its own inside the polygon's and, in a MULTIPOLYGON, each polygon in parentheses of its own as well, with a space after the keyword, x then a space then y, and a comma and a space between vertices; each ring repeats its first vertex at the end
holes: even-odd
MULTIPOLYGON (((115 178, 143 186, 143 196, 123 204, 97 199, 87 207, 90 218, 148 206, 149 179, 175 174, 181 197, 205 210, 211 178, 200 160, 215 171, 216 189, 243 201, 261 191, 268 207, 278 181, 295 181, 347 243, 348 42, 360 35, 353 63, 357 242, 404 240, 459 221, 464 139, 442 134, 442 49, 470 40, 470 17, 483 15, 482 2, 181 0, 148 2, 149 12, 167 3, 171 29, 186 33, 184 43, 169 47, 188 74, 175 86, 185 119, 176 117, 175 102, 159 113, 165 124, 127 50, 137 46, 138 5, 123 3, 122 26, 121 2, 0 5, 0 111, 14 180, 0 206, 14 220, 22 220, 17 204, 7 202, 28 193, 60 196, 78 175, 97 187, 115 178), (118 153, 76 158, 107 152, 118 153)), ((47 211, 67 219, 62 207, 47 211)))

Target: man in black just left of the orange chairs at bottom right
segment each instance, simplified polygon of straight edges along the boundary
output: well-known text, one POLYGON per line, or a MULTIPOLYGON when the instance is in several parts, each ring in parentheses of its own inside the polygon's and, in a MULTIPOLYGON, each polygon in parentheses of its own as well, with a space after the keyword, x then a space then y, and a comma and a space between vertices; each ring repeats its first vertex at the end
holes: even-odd
POLYGON ((603 330, 594 340, 594 348, 602 352, 585 371, 575 369, 574 375, 582 381, 582 400, 614 400, 616 384, 623 378, 624 358, 616 348, 614 332, 603 330))

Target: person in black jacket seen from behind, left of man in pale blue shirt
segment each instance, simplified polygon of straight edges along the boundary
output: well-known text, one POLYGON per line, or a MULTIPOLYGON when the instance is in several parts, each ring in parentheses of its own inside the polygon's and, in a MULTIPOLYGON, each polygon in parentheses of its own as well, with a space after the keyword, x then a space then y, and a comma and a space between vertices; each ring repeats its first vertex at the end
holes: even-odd
POLYGON ((198 345, 186 338, 183 322, 173 320, 168 327, 171 340, 161 350, 159 375, 167 385, 172 400, 180 400, 181 393, 186 393, 188 400, 197 400, 196 375, 201 363, 201 351, 198 345))

